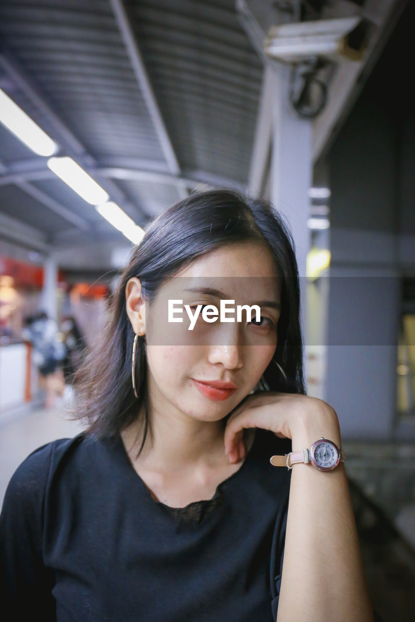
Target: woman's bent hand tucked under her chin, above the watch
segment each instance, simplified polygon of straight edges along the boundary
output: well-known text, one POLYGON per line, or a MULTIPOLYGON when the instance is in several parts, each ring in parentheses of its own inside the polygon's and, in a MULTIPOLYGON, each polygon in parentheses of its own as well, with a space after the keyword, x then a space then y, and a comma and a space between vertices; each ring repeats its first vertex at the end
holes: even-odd
POLYGON ((247 397, 227 420, 224 444, 229 462, 245 457, 244 429, 255 427, 270 430, 281 439, 292 439, 294 451, 306 446, 308 439, 314 442, 328 432, 330 440, 340 443, 337 415, 330 404, 318 397, 267 391, 247 397))

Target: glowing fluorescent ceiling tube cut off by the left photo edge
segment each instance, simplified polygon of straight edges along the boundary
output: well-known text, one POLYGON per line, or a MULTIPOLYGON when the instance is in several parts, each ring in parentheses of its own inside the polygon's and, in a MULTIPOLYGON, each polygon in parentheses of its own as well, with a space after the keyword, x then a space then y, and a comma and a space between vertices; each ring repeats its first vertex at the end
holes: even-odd
POLYGON ((37 156, 52 156, 58 146, 39 126, 0 88, 0 121, 19 141, 37 156))

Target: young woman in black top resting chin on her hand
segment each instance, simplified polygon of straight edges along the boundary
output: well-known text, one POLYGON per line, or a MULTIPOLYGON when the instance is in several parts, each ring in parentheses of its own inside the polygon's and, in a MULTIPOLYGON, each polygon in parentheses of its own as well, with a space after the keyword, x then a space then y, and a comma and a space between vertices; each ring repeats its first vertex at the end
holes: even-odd
POLYGON ((373 622, 299 313, 293 241, 267 203, 195 193, 150 223, 81 370, 87 431, 33 452, 7 488, 10 620, 373 622), (232 322, 230 302, 260 315, 232 322))

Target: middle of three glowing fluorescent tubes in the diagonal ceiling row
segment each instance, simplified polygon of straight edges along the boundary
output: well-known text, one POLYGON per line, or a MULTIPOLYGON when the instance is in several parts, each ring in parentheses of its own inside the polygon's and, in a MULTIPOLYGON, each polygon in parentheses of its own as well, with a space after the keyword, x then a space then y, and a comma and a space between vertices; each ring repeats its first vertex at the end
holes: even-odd
POLYGON ((70 157, 51 157, 47 165, 55 175, 75 190, 84 201, 91 205, 105 203, 110 198, 107 192, 70 157))

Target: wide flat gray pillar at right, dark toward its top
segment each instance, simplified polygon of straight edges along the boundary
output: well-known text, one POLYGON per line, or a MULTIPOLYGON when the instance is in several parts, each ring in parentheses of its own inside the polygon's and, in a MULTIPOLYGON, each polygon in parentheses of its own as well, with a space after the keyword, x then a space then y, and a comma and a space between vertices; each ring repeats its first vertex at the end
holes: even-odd
POLYGON ((343 437, 388 439, 400 282, 394 119, 362 96, 328 156, 332 215, 327 401, 343 437))

